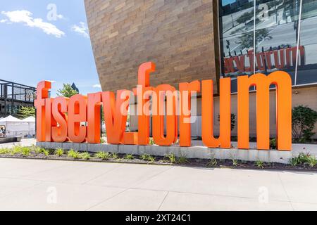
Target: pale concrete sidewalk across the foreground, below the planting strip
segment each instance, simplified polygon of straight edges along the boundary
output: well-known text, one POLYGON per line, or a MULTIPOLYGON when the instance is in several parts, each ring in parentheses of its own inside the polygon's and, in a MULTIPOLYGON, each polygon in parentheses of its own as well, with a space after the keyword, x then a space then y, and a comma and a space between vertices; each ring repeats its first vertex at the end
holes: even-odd
POLYGON ((0 159, 0 210, 317 210, 317 174, 0 159))

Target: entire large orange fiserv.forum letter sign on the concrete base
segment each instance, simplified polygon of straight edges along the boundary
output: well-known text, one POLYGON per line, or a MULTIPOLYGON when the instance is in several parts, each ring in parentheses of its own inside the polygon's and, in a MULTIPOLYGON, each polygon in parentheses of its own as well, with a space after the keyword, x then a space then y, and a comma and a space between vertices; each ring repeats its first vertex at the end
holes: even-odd
MULTIPOLYGON (((191 96, 201 91, 201 134, 209 148, 230 148, 231 82, 220 79, 220 136, 213 136, 213 81, 180 83, 179 91, 168 84, 151 86, 149 75, 155 71, 154 63, 139 67, 138 85, 133 91, 98 92, 71 98, 49 98, 50 82, 37 85, 37 141, 74 143, 100 143, 101 105, 104 107, 107 142, 111 144, 148 145, 149 124, 159 146, 170 146, 178 139, 180 146, 191 146, 191 96), (137 96, 138 131, 125 131, 130 96, 137 96), (151 98, 150 98, 151 96, 151 98), (151 100, 150 100, 151 99, 151 100), (166 117, 166 134, 164 134, 166 117), (178 120, 179 117, 179 120, 178 120), (82 123, 85 122, 83 126, 82 123)), ((277 87, 276 124, 278 150, 292 148, 292 81, 286 72, 277 71, 237 78, 237 136, 238 148, 249 148, 249 87, 256 86, 257 148, 270 148, 269 88, 277 87)))

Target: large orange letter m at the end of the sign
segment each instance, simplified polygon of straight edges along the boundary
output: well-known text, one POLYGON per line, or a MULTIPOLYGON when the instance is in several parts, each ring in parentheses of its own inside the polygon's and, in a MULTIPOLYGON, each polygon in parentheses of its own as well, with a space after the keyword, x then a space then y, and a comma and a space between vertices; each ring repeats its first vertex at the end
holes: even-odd
POLYGON ((270 85, 276 86, 276 129, 278 150, 292 148, 292 79, 287 72, 277 71, 240 76, 238 83, 238 148, 249 148, 249 87, 256 86, 257 148, 270 149, 270 85))

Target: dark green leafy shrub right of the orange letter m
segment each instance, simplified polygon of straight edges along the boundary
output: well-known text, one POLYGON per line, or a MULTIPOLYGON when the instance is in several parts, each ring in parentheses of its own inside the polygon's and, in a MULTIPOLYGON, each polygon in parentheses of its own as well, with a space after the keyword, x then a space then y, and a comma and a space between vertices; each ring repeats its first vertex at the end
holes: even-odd
POLYGON ((315 134, 313 129, 317 122, 317 112, 309 107, 299 105, 292 110, 292 134, 294 141, 310 141, 315 134))

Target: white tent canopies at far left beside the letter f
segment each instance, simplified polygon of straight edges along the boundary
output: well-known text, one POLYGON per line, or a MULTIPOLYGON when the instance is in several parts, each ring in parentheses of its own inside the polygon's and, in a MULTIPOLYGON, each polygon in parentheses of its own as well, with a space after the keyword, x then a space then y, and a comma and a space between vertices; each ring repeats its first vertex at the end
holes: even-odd
POLYGON ((20 120, 9 115, 0 120, 0 125, 6 126, 7 136, 35 135, 35 118, 32 119, 29 117, 25 118, 25 120, 20 120))

